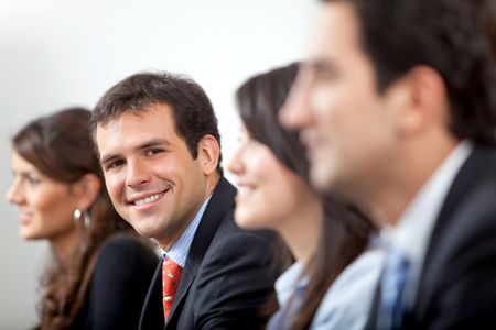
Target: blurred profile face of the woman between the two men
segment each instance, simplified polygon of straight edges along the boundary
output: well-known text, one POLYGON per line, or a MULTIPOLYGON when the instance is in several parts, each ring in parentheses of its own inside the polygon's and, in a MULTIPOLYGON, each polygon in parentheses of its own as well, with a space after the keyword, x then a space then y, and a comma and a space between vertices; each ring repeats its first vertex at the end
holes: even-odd
POLYGON ((298 215, 309 198, 316 198, 303 178, 246 129, 227 167, 237 177, 235 219, 240 227, 278 230, 298 215))

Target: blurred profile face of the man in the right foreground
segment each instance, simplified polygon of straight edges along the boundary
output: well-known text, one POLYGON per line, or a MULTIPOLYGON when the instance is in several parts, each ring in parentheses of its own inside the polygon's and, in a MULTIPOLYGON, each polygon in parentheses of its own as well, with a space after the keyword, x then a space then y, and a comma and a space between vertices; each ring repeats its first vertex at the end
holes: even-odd
POLYGON ((391 94, 377 92, 353 8, 345 2, 323 4, 310 61, 302 65, 281 112, 285 127, 302 132, 317 188, 363 188, 393 162, 391 113, 398 97, 391 94))

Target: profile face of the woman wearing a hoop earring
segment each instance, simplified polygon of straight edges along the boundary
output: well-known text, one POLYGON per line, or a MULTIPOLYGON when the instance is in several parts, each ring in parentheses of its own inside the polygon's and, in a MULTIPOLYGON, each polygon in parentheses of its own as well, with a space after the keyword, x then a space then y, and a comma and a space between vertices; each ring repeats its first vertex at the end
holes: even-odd
POLYGON ((73 220, 77 201, 71 185, 43 175, 15 151, 12 153, 14 180, 7 200, 19 208, 19 235, 24 240, 55 241, 76 231, 73 220))

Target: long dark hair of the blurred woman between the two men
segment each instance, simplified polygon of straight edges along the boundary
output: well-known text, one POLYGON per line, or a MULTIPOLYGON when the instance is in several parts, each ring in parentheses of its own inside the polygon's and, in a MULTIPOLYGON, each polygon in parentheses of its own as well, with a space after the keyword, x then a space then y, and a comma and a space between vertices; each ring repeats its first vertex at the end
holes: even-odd
MULTIPOLYGON (((251 77, 236 94, 241 120, 251 136, 266 144, 278 160, 310 186, 309 162, 296 132, 278 122, 281 109, 298 73, 298 63, 251 77)), ((371 222, 337 196, 320 195, 323 220, 319 245, 305 273, 309 284, 291 329, 308 329, 327 288, 366 248, 371 222)), ((281 260, 287 263, 287 260, 281 260)), ((291 304, 291 302, 290 302, 291 304)))

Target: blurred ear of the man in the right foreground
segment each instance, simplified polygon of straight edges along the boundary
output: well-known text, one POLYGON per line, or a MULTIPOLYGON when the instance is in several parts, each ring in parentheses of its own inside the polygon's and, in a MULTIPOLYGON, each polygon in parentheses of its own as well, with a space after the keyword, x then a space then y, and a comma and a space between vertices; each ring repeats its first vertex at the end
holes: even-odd
POLYGON ((392 88, 401 90, 402 103, 397 107, 401 133, 410 135, 448 125, 446 89, 438 72, 429 66, 416 66, 395 85, 392 88))

